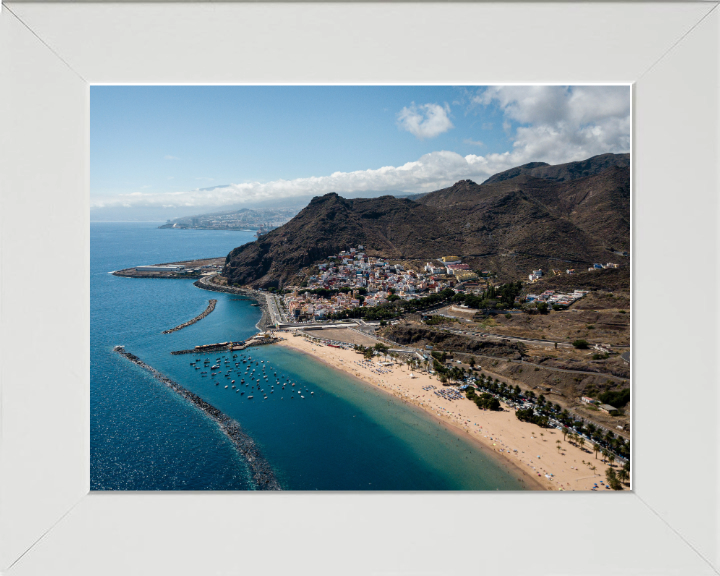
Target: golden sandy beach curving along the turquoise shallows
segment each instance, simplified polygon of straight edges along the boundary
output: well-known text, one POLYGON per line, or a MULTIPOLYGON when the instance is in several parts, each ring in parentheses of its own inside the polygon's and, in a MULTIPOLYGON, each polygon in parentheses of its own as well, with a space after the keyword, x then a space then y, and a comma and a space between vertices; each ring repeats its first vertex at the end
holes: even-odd
POLYGON ((529 489, 591 490, 597 483, 600 490, 606 491, 600 482, 605 480, 608 465, 603 464, 600 454, 596 458, 592 448, 581 449, 564 440, 559 430, 521 422, 504 404, 500 412, 480 410, 464 397, 450 400, 435 394, 450 387, 430 374, 411 372, 404 364, 383 365, 377 357, 370 362, 354 350, 325 346, 292 333, 275 335, 281 338, 280 346, 310 354, 421 408, 511 467, 529 489))

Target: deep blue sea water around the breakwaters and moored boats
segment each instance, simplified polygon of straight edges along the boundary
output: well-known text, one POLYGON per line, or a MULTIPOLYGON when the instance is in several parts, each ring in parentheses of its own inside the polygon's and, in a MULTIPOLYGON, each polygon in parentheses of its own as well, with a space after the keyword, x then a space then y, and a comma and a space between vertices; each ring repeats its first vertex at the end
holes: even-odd
MULTIPOLYGON (((244 354, 275 391, 247 400, 222 373, 190 363, 227 353, 170 355, 197 344, 242 340, 260 319, 248 300, 193 286, 192 280, 133 279, 109 272, 141 264, 224 256, 250 232, 160 230, 159 223, 91 224, 91 466, 93 490, 253 490, 243 458, 218 426, 112 351, 122 344, 243 427, 286 490, 522 490, 521 483, 467 440, 418 409, 285 348, 244 354), (200 322, 162 334, 202 312, 200 322), (255 365, 258 362, 258 365, 255 365), (277 376, 275 376, 277 375, 277 376), (305 399, 290 386, 291 381, 305 399), (220 382, 216 386, 215 382, 220 382), (310 395, 309 392, 314 392, 310 395), (282 400, 281 400, 282 398, 282 400)), ((242 354, 239 354, 242 357, 242 354)), ((199 364, 202 366, 202 362, 199 364)), ((245 374, 233 363, 236 386, 245 374)), ((252 369, 251 368, 251 369, 252 369)))

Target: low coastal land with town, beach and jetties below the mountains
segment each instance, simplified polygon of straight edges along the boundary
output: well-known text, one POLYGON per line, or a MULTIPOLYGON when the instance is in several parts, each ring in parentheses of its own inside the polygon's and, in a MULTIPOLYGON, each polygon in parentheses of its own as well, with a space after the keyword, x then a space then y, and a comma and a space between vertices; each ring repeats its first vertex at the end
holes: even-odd
MULTIPOLYGON (((250 340, 202 343, 173 354, 288 346, 429 410, 485 449, 526 466, 543 489, 622 489, 629 477, 629 390, 621 357, 628 348, 624 329, 604 329, 611 325, 604 315, 617 323, 624 312, 617 308, 627 301, 613 296, 611 304, 601 304, 608 296, 588 289, 543 289, 545 279, 572 282, 585 274, 572 269, 533 269, 527 280, 503 284, 491 270, 473 270, 456 255, 400 261, 367 252, 358 244, 332 254, 283 290, 229 285, 214 260, 129 271, 143 277, 197 275, 200 288, 259 304, 260 332, 250 340), (604 312, 603 306, 612 308, 604 312), (394 312, 377 321, 374 314, 386 310, 394 312), (598 324, 597 334, 587 319, 598 324), (549 334, 526 335, 528 321, 543 323, 549 334), (584 326, 570 330, 571 321, 584 326), (561 329, 568 331, 563 339, 554 335, 561 329), (597 343, 600 335, 608 342, 597 343), (494 348, 484 352, 478 342, 494 348), (546 446, 547 435, 559 435, 562 443, 546 446), (538 439, 539 447, 528 444, 538 439), (534 460, 529 450, 539 453, 534 460), (583 458, 593 452, 602 458, 583 458)), ((597 264, 587 274, 616 269, 597 264)))

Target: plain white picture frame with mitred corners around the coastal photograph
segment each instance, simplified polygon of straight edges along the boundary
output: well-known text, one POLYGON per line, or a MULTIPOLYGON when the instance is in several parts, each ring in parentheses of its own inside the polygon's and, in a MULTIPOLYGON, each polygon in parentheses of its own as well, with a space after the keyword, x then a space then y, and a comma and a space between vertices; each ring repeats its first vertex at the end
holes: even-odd
POLYGON ((720 573, 717 5, 5 3, 0 571, 720 573), (633 491, 89 493, 109 83, 632 84, 633 491))

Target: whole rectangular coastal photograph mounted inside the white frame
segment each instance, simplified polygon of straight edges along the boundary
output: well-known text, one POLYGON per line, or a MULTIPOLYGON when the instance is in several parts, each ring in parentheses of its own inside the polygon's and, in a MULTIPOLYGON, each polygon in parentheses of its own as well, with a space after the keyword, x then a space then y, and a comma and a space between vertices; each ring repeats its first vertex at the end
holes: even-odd
POLYGON ((90 489, 630 491, 631 102, 90 86, 90 489))

